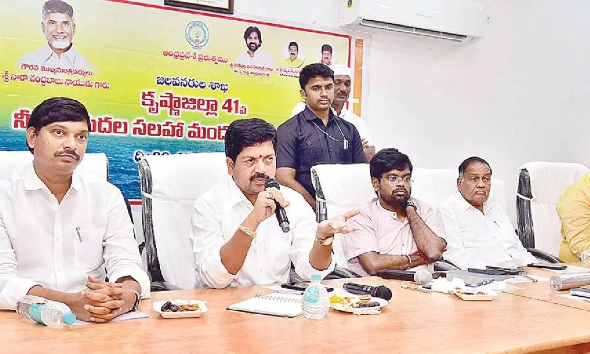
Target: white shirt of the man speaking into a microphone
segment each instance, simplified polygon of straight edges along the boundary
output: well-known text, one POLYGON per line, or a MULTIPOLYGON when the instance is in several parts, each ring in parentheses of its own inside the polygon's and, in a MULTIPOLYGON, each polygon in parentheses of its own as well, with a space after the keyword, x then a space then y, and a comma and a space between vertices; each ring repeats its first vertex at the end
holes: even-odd
POLYGON ((291 230, 283 232, 274 215, 261 222, 244 264, 235 275, 228 273, 221 263, 219 251, 234 237, 240 224, 253 211, 254 205, 230 176, 199 196, 191 217, 191 241, 198 282, 215 288, 287 283, 291 262, 296 273, 307 280, 314 273, 323 278, 334 270, 334 257, 330 266, 323 271, 316 270, 309 262, 317 231, 316 215, 312 208, 293 189, 281 186, 281 192, 290 202, 285 211, 291 230))

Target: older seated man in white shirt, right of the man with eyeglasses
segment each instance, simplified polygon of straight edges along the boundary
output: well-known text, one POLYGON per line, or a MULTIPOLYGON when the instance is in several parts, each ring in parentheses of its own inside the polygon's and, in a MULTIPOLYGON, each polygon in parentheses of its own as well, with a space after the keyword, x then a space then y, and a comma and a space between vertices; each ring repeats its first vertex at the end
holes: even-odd
POLYGON ((535 263, 514 232, 502 208, 488 200, 491 168, 486 160, 471 157, 459 166, 458 192, 437 211, 448 246, 442 255, 461 269, 518 267, 535 263))

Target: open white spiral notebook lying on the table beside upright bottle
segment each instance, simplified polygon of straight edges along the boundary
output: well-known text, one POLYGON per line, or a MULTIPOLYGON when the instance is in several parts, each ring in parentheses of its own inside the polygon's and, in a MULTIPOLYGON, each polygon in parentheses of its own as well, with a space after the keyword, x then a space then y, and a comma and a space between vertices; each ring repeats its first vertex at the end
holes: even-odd
POLYGON ((257 295, 232 304, 227 309, 281 317, 296 317, 303 313, 301 295, 295 294, 257 295))

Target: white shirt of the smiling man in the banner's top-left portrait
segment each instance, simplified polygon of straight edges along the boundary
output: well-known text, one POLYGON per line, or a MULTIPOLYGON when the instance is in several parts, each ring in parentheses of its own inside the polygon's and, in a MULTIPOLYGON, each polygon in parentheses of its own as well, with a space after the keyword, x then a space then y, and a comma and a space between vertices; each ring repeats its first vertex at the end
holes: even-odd
POLYGON ((51 49, 49 44, 45 47, 41 47, 38 50, 23 55, 18 60, 18 66, 22 63, 45 65, 47 67, 61 67, 61 68, 73 68, 73 69, 84 69, 90 71, 96 71, 96 67, 90 64, 80 53, 74 49, 74 45, 70 47, 68 51, 61 53, 58 57, 57 54, 51 49))

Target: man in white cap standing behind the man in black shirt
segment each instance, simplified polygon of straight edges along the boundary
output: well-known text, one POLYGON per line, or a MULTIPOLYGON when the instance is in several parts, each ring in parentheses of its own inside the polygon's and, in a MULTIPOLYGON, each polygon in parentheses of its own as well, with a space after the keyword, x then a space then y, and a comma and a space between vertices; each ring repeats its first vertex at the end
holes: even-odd
MULTIPOLYGON (((359 131, 365 156, 367 161, 370 161, 373 155, 375 155, 375 146, 369 143, 373 141, 369 125, 361 117, 344 107, 350 96, 351 70, 348 66, 340 64, 330 65, 330 68, 334 71, 334 100, 332 101, 332 110, 337 116, 346 120, 346 122, 352 123, 356 127, 356 130, 359 131)), ((304 109, 305 102, 297 103, 293 108, 293 112, 291 112, 291 117, 303 112, 304 109)))

